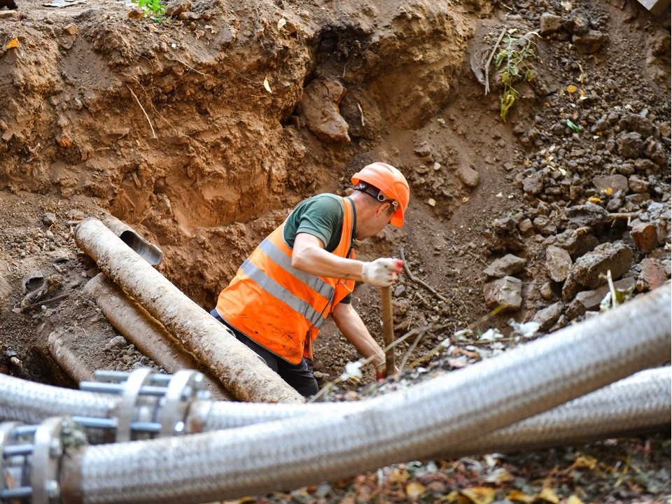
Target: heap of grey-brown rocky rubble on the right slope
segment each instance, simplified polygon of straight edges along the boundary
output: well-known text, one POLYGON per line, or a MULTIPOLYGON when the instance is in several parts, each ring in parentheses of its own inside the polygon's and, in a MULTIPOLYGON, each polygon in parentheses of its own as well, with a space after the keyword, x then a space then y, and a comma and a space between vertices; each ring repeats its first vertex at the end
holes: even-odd
MULTIPOLYGON (((518 18, 542 37, 538 80, 555 85, 529 85, 526 96, 539 106, 514 124, 524 152, 513 177, 526 209, 493 220, 486 238, 495 259, 483 270, 489 306, 528 309, 521 315, 541 330, 598 310, 610 292, 608 276, 628 293, 661 285, 670 278, 671 248, 668 105, 653 112, 656 92, 631 68, 621 69, 619 82, 591 72, 595 59, 584 55, 609 43, 610 19, 598 6, 548 4, 540 12, 518 3, 518 18), (543 59, 549 46, 563 55, 559 72, 543 59), (504 264, 525 263, 504 272, 504 264), (526 282, 540 280, 527 272, 535 265, 545 283, 526 282)), ((650 44, 669 46, 669 33, 650 44)), ((621 65, 617 58, 602 64, 621 65)))

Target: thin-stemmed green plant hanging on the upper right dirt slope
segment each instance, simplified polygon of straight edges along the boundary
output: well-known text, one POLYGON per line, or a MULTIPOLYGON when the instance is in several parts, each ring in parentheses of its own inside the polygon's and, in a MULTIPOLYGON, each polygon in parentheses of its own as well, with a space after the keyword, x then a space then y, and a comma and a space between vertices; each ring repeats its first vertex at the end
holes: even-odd
POLYGON ((514 85, 520 80, 530 81, 534 78, 530 66, 531 60, 536 57, 533 36, 538 36, 536 31, 529 31, 522 36, 508 33, 500 39, 502 47, 495 55, 495 68, 504 86, 499 107, 499 116, 504 122, 519 97, 514 85))

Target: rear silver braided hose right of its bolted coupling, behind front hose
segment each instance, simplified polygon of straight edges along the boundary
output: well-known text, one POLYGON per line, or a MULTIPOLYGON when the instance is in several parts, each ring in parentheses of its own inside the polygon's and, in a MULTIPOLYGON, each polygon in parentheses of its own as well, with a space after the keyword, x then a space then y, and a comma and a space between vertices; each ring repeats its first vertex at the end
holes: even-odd
MULTIPOLYGON (((544 446, 581 442, 664 425, 671 419, 671 381, 672 368, 669 366, 640 371, 530 419, 496 430, 464 449, 474 455, 525 448, 535 441, 544 446)), ((209 432, 304 415, 353 413, 365 409, 368 402, 365 399, 285 405, 199 401, 190 409, 189 421, 198 426, 193 432, 209 432)), ((450 456, 456 455, 451 452, 450 456)))

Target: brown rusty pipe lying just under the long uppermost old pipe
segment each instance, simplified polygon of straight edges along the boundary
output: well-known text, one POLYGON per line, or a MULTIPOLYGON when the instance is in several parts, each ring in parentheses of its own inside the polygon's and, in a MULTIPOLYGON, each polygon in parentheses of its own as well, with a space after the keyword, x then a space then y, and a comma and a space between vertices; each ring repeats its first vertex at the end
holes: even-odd
POLYGON ((144 355, 170 373, 181 369, 200 370, 213 399, 232 399, 232 395, 218 380, 209 376, 204 366, 184 349, 178 339, 105 274, 94 276, 87 282, 85 290, 110 323, 144 355))

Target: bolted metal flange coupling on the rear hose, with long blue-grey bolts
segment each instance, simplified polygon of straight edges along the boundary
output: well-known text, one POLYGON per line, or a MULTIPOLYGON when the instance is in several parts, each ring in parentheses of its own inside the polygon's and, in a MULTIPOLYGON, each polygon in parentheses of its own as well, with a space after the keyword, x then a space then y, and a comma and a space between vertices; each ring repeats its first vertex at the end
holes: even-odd
POLYGON ((195 370, 180 370, 176 374, 153 373, 140 368, 130 373, 96 371, 101 381, 83 381, 80 390, 113 393, 120 397, 109 419, 76 416, 73 419, 85 427, 115 431, 117 442, 171 437, 186 433, 186 417, 191 402, 209 398, 203 374, 195 370))

